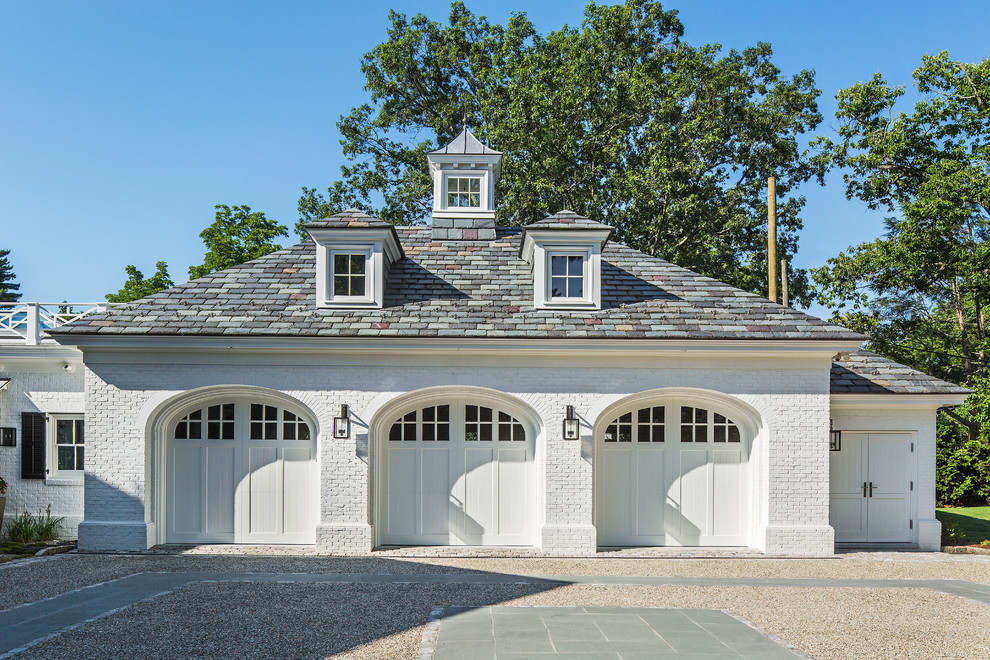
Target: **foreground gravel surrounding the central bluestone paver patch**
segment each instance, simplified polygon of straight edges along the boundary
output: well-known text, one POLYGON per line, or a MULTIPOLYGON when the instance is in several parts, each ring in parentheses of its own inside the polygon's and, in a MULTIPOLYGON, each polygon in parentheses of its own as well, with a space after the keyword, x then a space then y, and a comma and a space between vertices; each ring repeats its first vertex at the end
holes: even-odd
POLYGON ((925 589, 206 583, 17 657, 412 659, 432 607, 495 604, 726 609, 815 658, 990 656, 990 606, 925 589))

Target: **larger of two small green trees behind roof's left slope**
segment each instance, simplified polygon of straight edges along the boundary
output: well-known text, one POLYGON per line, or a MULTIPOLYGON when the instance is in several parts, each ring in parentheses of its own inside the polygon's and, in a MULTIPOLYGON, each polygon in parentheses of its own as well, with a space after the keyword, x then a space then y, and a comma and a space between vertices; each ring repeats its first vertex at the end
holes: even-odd
POLYGON ((285 225, 269 220, 250 206, 216 205, 216 219, 200 237, 206 245, 203 264, 189 267, 190 279, 231 268, 278 250, 279 236, 288 236, 285 225))

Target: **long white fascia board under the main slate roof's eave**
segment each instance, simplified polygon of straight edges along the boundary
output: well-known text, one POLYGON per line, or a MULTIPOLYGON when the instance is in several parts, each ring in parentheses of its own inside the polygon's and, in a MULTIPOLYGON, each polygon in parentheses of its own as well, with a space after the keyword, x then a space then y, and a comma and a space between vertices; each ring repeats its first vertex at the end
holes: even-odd
MULTIPOLYGON (((520 355, 616 355, 655 356, 792 356, 831 360, 836 353, 856 350, 858 340, 666 340, 666 339, 498 339, 479 338, 400 338, 400 337, 221 337, 221 336, 140 336, 65 335, 67 345, 86 353, 142 350, 243 350, 265 353, 433 353, 520 354, 520 355)), ((965 398, 965 397, 964 397, 965 398)))

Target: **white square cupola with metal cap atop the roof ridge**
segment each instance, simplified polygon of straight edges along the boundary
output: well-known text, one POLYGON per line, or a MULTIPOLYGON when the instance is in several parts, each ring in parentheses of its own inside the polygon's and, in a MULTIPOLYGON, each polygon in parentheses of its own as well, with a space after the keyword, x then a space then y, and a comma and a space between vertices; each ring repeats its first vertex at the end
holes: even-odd
POLYGON ((426 158, 433 175, 433 226, 494 230, 495 184, 501 175, 502 153, 483 145, 465 126, 449 144, 426 158))

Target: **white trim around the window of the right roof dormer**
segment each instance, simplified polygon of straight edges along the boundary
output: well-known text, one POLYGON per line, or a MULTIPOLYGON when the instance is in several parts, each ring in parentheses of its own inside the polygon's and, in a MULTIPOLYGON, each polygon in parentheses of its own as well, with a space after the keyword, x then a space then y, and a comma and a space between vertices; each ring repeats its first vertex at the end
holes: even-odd
POLYGON ((522 257, 533 264, 533 305, 537 309, 601 309, 602 245, 610 230, 528 229, 522 257), (551 264, 554 256, 581 256, 583 286, 580 297, 554 297, 551 264))

